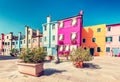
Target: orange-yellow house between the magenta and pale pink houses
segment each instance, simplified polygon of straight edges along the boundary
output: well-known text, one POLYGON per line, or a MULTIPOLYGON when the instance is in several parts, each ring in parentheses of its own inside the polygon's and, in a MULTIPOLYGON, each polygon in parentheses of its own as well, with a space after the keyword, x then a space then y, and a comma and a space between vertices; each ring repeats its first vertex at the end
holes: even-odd
POLYGON ((91 55, 105 55, 106 25, 87 26, 82 29, 82 47, 90 48, 91 55))

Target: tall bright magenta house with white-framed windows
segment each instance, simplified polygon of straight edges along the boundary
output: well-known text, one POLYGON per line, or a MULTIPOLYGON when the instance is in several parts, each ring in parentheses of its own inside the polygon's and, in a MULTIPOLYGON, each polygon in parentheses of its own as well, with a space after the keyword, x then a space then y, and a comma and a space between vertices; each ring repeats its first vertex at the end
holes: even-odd
POLYGON ((72 49, 81 46, 83 12, 79 15, 58 21, 58 54, 68 55, 72 49))

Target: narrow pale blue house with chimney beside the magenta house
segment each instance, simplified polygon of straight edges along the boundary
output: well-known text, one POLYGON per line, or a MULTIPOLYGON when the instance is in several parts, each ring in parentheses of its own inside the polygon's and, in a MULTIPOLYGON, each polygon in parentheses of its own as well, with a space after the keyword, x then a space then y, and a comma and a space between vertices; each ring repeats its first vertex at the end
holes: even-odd
POLYGON ((51 17, 47 16, 47 23, 42 24, 43 27, 43 47, 47 50, 47 55, 57 55, 57 22, 51 21, 51 17))

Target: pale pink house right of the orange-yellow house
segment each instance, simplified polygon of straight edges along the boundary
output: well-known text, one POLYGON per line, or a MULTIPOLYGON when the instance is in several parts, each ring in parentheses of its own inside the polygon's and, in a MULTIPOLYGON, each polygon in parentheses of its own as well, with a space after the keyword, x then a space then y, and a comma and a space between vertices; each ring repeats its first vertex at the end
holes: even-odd
POLYGON ((106 54, 120 55, 120 24, 106 26, 106 54))

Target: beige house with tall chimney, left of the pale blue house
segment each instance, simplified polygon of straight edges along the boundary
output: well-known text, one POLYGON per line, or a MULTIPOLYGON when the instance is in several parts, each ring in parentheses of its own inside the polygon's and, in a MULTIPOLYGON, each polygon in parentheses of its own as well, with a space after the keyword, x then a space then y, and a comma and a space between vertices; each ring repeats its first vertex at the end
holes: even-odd
POLYGON ((25 45, 26 48, 38 48, 42 46, 42 33, 39 30, 34 30, 29 26, 25 28, 25 45), (41 44, 41 45, 40 45, 41 44))

